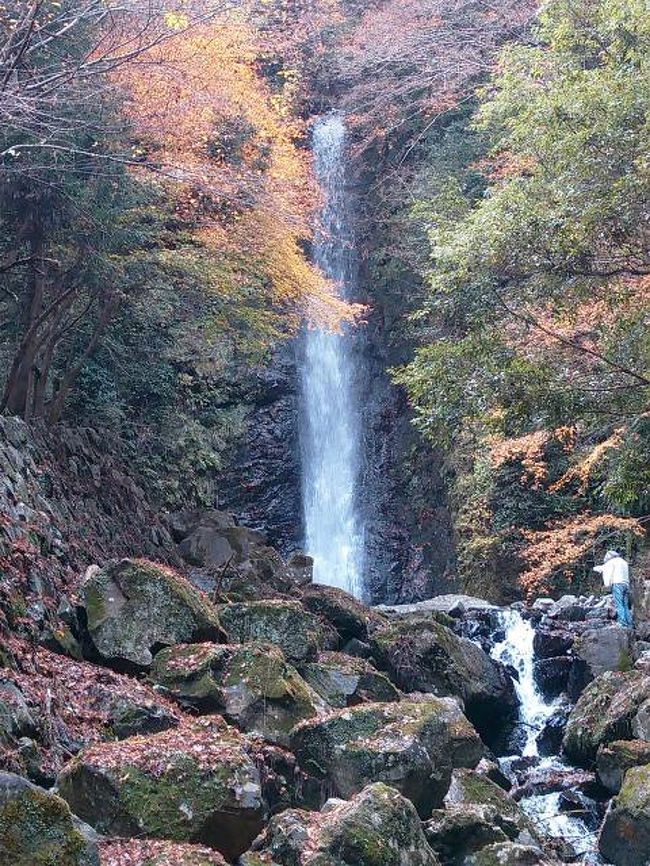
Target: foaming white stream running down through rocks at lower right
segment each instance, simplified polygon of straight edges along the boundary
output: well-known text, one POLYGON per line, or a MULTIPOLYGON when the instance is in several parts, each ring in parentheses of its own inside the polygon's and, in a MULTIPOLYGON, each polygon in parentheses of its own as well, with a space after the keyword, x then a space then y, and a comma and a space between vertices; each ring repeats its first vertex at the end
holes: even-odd
MULTIPOLYGON (((566 777, 570 789, 571 774, 575 774, 576 768, 567 764, 559 753, 540 756, 540 736, 549 720, 561 709, 563 699, 546 700, 537 688, 533 648, 535 629, 531 621, 517 610, 501 611, 499 619, 505 636, 493 646, 491 655, 516 672, 513 682, 520 700, 516 754, 499 759, 501 770, 514 786, 525 788, 531 780, 533 784, 539 780, 540 787, 544 787, 544 779, 560 780, 561 784, 562 778, 566 777)), ((554 788, 557 786, 553 785, 554 788)), ((542 835, 557 840, 558 856, 562 860, 583 866, 601 866, 604 863, 597 853, 600 815, 595 800, 582 793, 571 792, 567 796, 565 791, 553 790, 523 796, 519 805, 542 835), (563 851, 566 843, 570 848, 563 851)))

